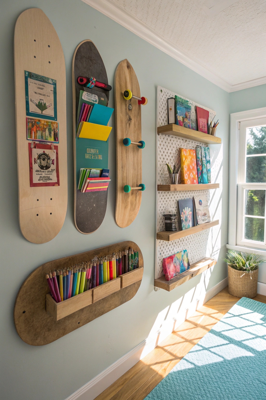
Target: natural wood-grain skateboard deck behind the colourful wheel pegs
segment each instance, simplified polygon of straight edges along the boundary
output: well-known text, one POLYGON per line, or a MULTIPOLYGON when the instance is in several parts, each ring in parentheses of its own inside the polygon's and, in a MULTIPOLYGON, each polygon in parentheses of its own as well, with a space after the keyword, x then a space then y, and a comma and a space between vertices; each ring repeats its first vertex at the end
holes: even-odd
POLYGON ((123 139, 141 140, 141 105, 132 98, 125 100, 123 93, 130 90, 140 97, 140 86, 128 60, 121 61, 114 75, 116 121, 116 224, 121 228, 130 225, 138 215, 142 193, 140 190, 124 192, 124 186, 142 183, 142 150, 137 146, 124 146, 123 139))

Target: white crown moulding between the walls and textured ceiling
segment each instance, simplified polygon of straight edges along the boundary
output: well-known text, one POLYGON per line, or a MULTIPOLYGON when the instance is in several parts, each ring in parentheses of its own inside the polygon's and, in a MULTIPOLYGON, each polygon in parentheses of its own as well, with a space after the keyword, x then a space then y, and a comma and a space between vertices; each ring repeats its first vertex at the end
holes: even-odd
POLYGON ((189 56, 186 52, 181 50, 175 44, 171 43, 169 40, 164 38, 162 35, 158 34, 146 25, 144 22, 136 18, 134 15, 130 14, 124 8, 118 6, 118 4, 112 2, 112 0, 82 0, 84 3, 95 8, 95 10, 111 18, 113 21, 124 26, 124 28, 130 30, 140 38, 146 40, 146 42, 152 44, 158 49, 162 50, 164 53, 173 57, 175 60, 181 62, 191 70, 197 72, 199 75, 203 76, 210 82, 219 86, 227 92, 235 92, 236 90, 242 90, 246 88, 251 88, 253 86, 258 86, 266 83, 266 76, 263 78, 258 78, 250 80, 248 82, 242 82, 236 85, 232 85, 227 82, 221 76, 217 75, 214 71, 209 70, 206 66, 201 64, 198 60, 189 56))

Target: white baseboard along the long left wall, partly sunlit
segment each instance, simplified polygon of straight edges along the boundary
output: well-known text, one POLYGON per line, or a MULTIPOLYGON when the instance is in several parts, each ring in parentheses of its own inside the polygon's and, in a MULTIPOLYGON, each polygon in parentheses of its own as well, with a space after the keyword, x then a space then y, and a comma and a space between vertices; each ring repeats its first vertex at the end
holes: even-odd
MULTIPOLYGON (((259 282, 260 283, 260 282, 259 282)), ((149 352, 154 350, 160 342, 162 342, 171 332, 177 330, 189 316, 191 316, 197 308, 201 307, 215 294, 219 293, 223 288, 228 285, 228 278, 225 278, 213 288, 208 290, 205 295, 200 299, 196 299, 189 305, 189 308, 182 309, 175 314, 174 317, 164 320, 160 329, 156 331, 151 337, 138 344, 130 352, 119 358, 114 364, 106 368, 99 375, 95 376, 92 380, 78 389, 75 393, 71 394, 66 400, 93 400, 99 396, 105 389, 114 383, 120 376, 130 370, 138 361, 142 360, 149 352)), ((262 284, 265 286, 266 284, 262 284)), ((259 293, 259 292, 258 292, 259 293)))

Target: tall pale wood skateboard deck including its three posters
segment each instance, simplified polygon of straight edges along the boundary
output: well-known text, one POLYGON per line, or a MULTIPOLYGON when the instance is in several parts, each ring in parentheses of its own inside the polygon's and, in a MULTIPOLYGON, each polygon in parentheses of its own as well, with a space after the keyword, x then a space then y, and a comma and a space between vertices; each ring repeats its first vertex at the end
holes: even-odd
POLYGON ((14 64, 20 229, 30 242, 45 243, 58 234, 67 212, 66 80, 60 40, 39 8, 17 19, 14 64), (45 175, 37 184, 36 170, 45 175))

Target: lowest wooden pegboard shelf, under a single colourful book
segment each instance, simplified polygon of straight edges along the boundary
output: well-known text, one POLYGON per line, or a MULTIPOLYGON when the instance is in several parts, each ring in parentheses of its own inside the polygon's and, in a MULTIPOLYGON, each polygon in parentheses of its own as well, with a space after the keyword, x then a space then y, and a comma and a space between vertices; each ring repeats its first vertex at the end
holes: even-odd
POLYGON ((154 280, 154 286, 157 288, 161 288, 170 292, 177 286, 187 282, 187 280, 193 278, 193 276, 201 274, 201 272, 207 270, 208 268, 214 266, 216 264, 215 258, 205 257, 202 260, 195 262, 189 268, 189 270, 182 272, 182 274, 175 276, 175 278, 171 280, 166 280, 165 276, 161 276, 161 278, 154 280))

